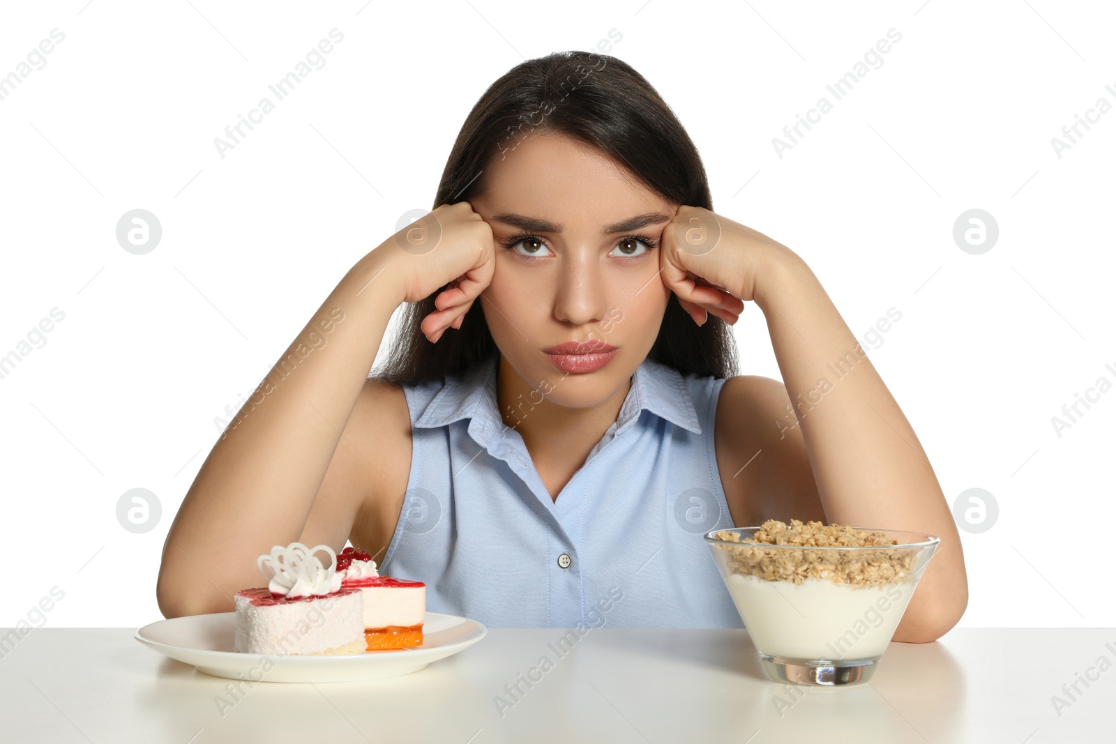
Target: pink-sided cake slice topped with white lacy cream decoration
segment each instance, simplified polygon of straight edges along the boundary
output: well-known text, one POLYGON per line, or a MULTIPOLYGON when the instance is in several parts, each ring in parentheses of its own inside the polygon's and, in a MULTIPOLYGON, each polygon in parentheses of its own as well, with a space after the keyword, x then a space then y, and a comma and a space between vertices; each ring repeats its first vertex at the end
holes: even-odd
POLYGON ((267 587, 237 592, 233 649, 246 654, 363 654, 363 596, 341 587, 337 554, 329 545, 292 542, 260 555, 267 587), (329 553, 323 566, 315 553, 329 553))

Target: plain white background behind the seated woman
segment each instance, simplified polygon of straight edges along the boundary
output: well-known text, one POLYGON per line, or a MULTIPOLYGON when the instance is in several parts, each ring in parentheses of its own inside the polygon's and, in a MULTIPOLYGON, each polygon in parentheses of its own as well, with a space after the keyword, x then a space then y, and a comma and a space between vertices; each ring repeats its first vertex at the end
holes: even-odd
MULTIPOLYGON (((696 143, 716 212, 805 258, 858 337, 902 312, 873 364, 950 502, 981 487, 999 504, 962 532, 960 625, 1116 624, 1098 589, 1116 392, 1051 425, 1116 383, 1116 112, 1051 146, 1116 104, 1114 23, 1104 3, 1051 0, 7 4, 0 76, 51 29, 65 40, 0 100, 0 356, 65 318, 0 379, 0 626, 55 586, 52 627, 160 619, 163 541, 214 418, 400 215, 431 207, 489 84, 610 29, 696 143), (214 138, 333 28, 325 66, 221 158, 214 138), (892 28, 884 64, 780 158, 772 137, 892 28), (116 240, 133 209, 162 224, 144 255, 116 240), (979 255, 953 240, 970 209, 999 224, 979 255), (142 534, 116 518, 134 487, 162 506, 142 534)), ((779 378, 756 306, 735 331, 744 374, 779 378)))

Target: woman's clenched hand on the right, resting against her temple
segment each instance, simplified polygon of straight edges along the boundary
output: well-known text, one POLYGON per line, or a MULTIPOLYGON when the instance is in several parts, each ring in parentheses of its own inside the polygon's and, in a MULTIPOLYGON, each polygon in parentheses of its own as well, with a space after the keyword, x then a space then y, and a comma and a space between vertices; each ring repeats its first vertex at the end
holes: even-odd
POLYGON ((790 253, 763 233, 701 206, 680 206, 661 243, 663 283, 699 326, 706 313, 735 323, 744 302, 756 299, 766 262, 790 253))

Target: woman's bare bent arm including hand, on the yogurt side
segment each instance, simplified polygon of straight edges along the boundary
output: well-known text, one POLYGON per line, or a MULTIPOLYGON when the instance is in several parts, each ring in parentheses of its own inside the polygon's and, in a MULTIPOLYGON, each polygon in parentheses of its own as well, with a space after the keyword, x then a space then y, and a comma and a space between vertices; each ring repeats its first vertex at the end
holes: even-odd
POLYGON ((939 537, 894 638, 924 642, 945 634, 969 602, 956 525, 911 424, 818 278, 782 243, 689 205, 664 228, 660 261, 663 282, 695 322, 712 313, 735 323, 748 300, 767 318, 786 388, 752 386, 759 395, 749 405, 766 410, 759 426, 771 427, 751 438, 764 443, 758 455, 742 453, 757 455, 748 476, 760 484, 753 508, 782 515, 788 504, 801 509, 817 499, 829 523, 939 537), (788 496, 787 484, 800 483, 807 467, 816 492, 788 496))

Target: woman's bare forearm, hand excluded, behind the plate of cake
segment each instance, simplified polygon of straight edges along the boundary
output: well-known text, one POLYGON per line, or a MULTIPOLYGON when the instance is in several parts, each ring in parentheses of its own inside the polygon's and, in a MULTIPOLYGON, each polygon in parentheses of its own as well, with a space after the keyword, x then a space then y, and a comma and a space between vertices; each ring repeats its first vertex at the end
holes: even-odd
MULTIPOLYGON (((205 458, 163 547, 156 597, 165 617, 232 610, 239 589, 261 582, 257 557, 302 534, 403 299, 385 248, 338 282, 205 458)), ((328 505, 337 513, 335 550, 368 485, 364 473, 350 471, 337 497, 352 503, 328 505)))

